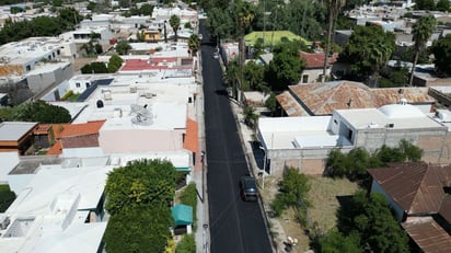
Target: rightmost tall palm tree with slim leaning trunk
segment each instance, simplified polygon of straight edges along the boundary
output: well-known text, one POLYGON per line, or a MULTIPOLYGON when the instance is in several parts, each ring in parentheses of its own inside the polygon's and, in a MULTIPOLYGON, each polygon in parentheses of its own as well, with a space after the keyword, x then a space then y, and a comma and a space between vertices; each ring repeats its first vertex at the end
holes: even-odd
POLYGON ((418 61, 419 53, 426 48, 426 43, 428 42, 430 35, 432 35, 433 27, 436 26, 436 18, 433 15, 424 15, 418 19, 415 23, 412 33, 414 34, 414 65, 412 66, 410 78, 408 79, 408 84, 412 85, 414 81, 414 72, 418 61))

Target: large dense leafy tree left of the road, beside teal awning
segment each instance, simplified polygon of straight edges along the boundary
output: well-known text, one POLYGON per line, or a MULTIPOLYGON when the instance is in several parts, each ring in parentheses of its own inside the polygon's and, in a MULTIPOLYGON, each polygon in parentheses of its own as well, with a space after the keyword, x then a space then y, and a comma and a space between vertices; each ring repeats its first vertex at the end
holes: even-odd
POLYGON ((105 250, 112 253, 164 252, 170 239, 175 168, 166 160, 136 160, 106 180, 105 250))

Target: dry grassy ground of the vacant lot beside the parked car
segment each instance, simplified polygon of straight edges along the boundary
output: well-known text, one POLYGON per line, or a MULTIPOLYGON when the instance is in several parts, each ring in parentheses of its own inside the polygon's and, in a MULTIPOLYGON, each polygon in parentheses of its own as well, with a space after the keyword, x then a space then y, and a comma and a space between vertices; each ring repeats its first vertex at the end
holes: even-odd
MULTIPOLYGON (((337 196, 352 195, 358 185, 348 180, 333 180, 323 176, 309 176, 311 189, 309 199, 312 207, 309 208, 310 223, 317 225, 320 231, 326 232, 336 225, 336 210, 339 206, 337 196)), ((269 203, 277 193, 277 182, 280 177, 265 177, 265 189, 263 189, 263 198, 265 209, 269 209, 269 203)), ((287 237, 296 238, 298 244, 293 246, 291 252, 305 252, 309 250, 309 237, 304 229, 294 220, 293 210, 287 210, 280 218, 269 219, 271 233, 275 235, 278 249, 284 249, 284 241, 287 237)))

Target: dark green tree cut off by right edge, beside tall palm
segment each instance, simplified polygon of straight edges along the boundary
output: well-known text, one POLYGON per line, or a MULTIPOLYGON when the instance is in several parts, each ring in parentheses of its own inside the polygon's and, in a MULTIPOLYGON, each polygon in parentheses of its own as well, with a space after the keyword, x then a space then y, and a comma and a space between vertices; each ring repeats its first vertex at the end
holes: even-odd
POLYGON ((451 34, 439 38, 432 44, 433 62, 441 73, 451 74, 451 34))

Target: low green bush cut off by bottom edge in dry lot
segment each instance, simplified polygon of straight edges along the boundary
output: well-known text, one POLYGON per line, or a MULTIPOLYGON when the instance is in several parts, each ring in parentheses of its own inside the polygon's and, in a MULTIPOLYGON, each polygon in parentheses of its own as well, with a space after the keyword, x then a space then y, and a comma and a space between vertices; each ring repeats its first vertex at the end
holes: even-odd
POLYGON ((336 230, 328 231, 319 238, 319 252, 321 253, 361 253, 359 238, 355 234, 345 237, 336 230))

